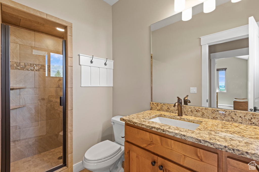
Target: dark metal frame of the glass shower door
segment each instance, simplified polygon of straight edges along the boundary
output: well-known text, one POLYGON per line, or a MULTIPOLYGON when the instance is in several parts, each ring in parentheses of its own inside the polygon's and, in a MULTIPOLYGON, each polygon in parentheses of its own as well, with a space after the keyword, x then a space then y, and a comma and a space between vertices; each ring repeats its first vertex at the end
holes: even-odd
MULTIPOLYGON (((10 144, 10 26, 1 23, 1 171, 10 171, 11 161, 11 144, 10 144)), ((66 41, 62 40, 63 55, 63 79, 62 94, 60 97, 60 105, 62 105, 62 127, 63 127, 63 143, 62 165, 54 167, 46 172, 53 172, 66 164, 66 41)))

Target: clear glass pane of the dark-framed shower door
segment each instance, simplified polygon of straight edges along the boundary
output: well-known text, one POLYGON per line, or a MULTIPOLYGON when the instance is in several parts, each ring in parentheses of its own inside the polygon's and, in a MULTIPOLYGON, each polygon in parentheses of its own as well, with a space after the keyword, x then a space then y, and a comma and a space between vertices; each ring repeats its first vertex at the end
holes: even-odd
POLYGON ((10 27, 10 171, 63 164, 62 39, 10 27))

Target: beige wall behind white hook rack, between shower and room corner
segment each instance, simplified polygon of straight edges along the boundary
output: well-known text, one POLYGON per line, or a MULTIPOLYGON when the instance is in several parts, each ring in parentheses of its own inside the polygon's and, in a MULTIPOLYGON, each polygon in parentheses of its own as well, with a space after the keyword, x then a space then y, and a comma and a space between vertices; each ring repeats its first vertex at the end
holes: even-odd
POLYGON ((112 7, 102 0, 15 0, 73 23, 73 164, 92 145, 111 140, 112 87, 80 87, 78 54, 112 60, 112 7))

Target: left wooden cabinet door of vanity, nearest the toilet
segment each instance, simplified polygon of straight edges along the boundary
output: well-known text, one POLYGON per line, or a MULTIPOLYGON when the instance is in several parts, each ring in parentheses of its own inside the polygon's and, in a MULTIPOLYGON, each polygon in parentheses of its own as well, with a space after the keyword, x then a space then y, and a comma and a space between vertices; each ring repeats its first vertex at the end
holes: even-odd
POLYGON ((125 172, 157 172, 158 156, 138 146, 125 142, 125 172), (152 161, 155 161, 152 166, 152 161))

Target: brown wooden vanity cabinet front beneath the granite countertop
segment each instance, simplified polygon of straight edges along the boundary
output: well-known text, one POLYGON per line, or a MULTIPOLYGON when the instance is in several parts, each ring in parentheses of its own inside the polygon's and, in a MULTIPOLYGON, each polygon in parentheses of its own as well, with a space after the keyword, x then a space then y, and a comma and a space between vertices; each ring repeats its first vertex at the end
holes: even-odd
POLYGON ((251 171, 251 161, 254 160, 125 123, 125 172, 159 172, 159 166, 163 166, 163 172, 251 171), (154 166, 152 161, 156 162, 154 166))

